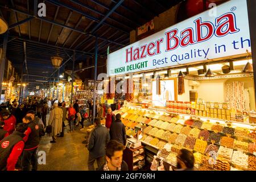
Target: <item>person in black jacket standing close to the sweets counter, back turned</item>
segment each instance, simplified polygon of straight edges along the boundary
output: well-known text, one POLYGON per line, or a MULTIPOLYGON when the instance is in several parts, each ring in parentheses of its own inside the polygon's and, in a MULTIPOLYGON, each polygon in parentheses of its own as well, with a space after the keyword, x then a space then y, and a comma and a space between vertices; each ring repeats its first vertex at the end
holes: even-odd
POLYGON ((117 140, 117 142, 122 143, 124 146, 126 145, 126 131, 125 125, 123 125, 121 121, 121 114, 117 114, 115 116, 115 121, 112 122, 109 130, 110 139, 117 140))

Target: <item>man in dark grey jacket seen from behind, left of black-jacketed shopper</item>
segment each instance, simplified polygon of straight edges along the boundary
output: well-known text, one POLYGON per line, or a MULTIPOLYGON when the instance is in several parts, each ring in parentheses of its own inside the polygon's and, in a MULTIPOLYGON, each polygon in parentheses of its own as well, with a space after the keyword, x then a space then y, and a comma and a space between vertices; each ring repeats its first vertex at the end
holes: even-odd
POLYGON ((101 125, 100 118, 94 119, 94 125, 96 127, 93 129, 90 135, 88 150, 88 169, 89 171, 94 171, 94 162, 97 160, 98 167, 105 163, 105 147, 109 142, 110 136, 109 131, 105 126, 101 125))

